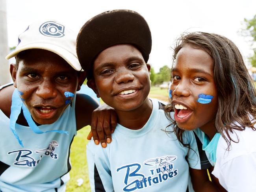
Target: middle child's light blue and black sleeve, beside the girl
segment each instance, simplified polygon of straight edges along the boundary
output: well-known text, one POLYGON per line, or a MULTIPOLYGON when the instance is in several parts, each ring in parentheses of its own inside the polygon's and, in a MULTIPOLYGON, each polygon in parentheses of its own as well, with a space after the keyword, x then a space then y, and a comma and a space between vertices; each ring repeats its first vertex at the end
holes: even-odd
POLYGON ((189 167, 193 169, 208 169, 212 165, 206 156, 204 150, 202 150, 202 142, 194 131, 184 131, 184 140, 187 140, 189 144, 189 151, 187 155, 187 161, 189 167))

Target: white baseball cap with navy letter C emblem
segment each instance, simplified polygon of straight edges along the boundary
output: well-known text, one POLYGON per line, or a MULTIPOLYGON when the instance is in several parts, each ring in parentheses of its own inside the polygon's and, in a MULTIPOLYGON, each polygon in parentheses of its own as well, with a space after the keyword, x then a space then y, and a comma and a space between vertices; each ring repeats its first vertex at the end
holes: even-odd
POLYGON ((75 70, 82 67, 76 55, 77 33, 58 21, 37 21, 19 35, 16 49, 6 56, 6 59, 17 56, 19 52, 28 49, 44 49, 59 55, 75 70))

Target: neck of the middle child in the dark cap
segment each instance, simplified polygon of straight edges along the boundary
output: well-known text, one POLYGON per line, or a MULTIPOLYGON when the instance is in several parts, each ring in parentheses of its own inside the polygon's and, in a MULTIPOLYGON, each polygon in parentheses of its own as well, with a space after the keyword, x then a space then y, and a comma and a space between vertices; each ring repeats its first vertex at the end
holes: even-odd
POLYGON ((153 105, 148 98, 138 108, 132 111, 116 111, 119 124, 128 129, 141 129, 152 113, 153 105))

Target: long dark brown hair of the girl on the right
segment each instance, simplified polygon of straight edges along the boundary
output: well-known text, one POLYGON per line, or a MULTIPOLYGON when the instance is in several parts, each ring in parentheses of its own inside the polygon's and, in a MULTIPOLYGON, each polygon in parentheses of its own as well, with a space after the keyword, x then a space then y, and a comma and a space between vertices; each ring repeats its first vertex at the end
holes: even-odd
MULTIPOLYGON (((239 142, 230 137, 229 131, 243 131, 250 127, 254 131, 256 120, 256 89, 252 78, 243 61, 243 57, 234 42, 214 33, 193 32, 183 33, 174 46, 173 66, 179 50, 185 45, 195 45, 208 52, 214 63, 214 81, 218 91, 218 111, 215 127, 230 147, 231 141, 239 142), (225 136, 225 134, 226 136, 225 136)), ((182 144, 182 129, 179 129, 171 117, 173 105, 168 103, 165 114, 174 126, 174 132, 182 144)))

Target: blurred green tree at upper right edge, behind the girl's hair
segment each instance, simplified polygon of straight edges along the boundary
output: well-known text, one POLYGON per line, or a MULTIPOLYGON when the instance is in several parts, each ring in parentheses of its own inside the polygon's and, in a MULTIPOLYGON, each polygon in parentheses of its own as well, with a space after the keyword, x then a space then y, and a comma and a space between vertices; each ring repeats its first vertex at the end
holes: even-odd
MULTIPOLYGON (((252 47, 256 44, 256 15, 251 19, 244 19, 245 29, 241 30, 243 36, 252 37, 252 47)), ((254 55, 249 57, 252 66, 256 67, 256 48, 253 48, 254 55)))

